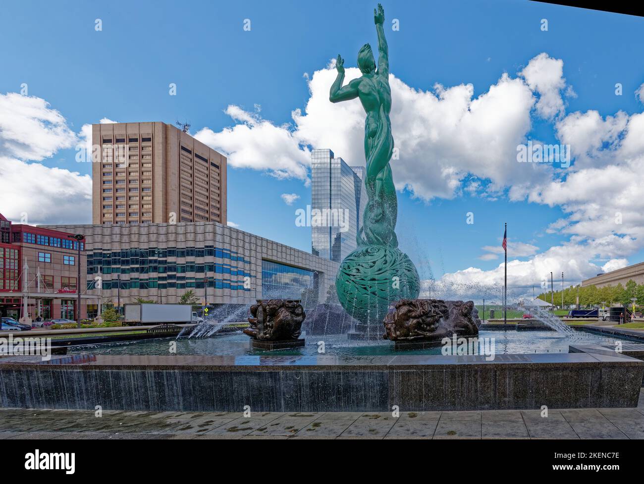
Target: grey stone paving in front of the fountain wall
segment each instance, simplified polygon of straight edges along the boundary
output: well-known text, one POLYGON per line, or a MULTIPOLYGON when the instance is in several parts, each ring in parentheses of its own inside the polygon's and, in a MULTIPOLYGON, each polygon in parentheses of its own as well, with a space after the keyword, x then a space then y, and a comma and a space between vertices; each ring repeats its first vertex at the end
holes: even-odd
POLYGON ((0 409, 0 439, 644 439, 637 408, 460 412, 129 412, 0 409))

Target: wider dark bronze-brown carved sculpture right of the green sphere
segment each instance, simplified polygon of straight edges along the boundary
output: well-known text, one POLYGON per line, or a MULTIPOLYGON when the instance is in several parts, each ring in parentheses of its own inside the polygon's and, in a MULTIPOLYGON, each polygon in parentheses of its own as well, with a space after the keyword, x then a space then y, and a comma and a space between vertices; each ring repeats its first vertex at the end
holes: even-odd
POLYGON ((481 321, 473 301, 401 299, 389 306, 383 324, 384 339, 430 341, 475 336, 481 321))

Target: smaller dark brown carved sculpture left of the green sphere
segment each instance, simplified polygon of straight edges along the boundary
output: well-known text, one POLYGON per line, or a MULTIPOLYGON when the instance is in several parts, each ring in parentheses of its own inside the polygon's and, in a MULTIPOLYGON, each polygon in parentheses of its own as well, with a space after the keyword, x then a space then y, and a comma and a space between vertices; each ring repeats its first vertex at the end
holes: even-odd
POLYGON ((298 339, 306 317, 299 299, 258 299, 251 306, 251 315, 251 326, 243 332, 265 341, 298 339))

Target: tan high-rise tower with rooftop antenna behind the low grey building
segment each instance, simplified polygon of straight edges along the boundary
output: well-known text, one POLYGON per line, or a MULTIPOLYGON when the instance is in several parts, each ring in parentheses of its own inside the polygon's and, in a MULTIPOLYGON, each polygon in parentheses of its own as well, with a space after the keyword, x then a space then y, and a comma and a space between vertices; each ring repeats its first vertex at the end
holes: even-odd
POLYGON ((93 124, 93 223, 226 225, 226 157, 171 124, 93 124))

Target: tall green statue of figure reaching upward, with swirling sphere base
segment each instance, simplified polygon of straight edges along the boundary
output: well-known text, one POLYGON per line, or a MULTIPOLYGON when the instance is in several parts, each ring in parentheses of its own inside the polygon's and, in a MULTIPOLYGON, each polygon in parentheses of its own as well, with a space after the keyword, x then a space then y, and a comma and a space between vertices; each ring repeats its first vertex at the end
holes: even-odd
POLYGON ((366 111, 365 189, 368 201, 363 225, 357 234, 357 249, 345 257, 337 278, 337 296, 343 308, 366 325, 382 326, 390 302, 415 299, 419 277, 412 261, 398 249, 395 234, 398 202, 389 161, 393 153, 392 91, 389 87, 389 54, 384 38, 384 10, 374 10, 379 58, 376 67, 369 44, 358 52, 362 77, 345 80, 345 61, 337 56, 337 77, 329 100, 341 102, 356 97, 366 111))

